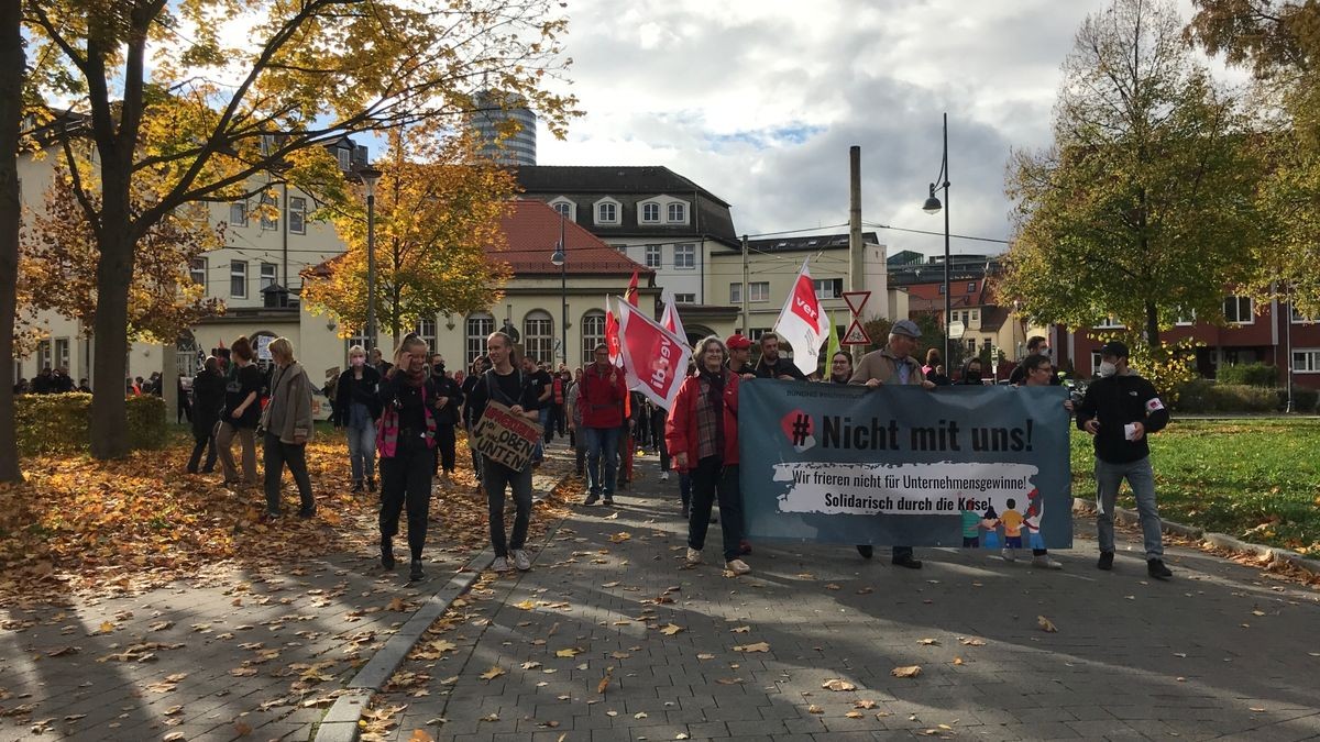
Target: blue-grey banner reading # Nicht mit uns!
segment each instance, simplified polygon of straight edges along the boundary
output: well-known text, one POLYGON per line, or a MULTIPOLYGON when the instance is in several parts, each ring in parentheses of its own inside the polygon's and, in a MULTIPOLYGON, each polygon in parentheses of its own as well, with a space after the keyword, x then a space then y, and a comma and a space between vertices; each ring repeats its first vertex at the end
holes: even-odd
POLYGON ((1061 387, 744 382, 747 536, 1069 548, 1065 399, 1061 387))

